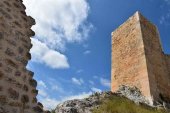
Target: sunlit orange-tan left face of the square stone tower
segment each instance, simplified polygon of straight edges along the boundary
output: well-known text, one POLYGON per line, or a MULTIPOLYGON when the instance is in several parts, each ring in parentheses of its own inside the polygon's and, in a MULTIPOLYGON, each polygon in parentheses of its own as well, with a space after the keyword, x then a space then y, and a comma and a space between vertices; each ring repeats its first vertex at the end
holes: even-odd
POLYGON ((120 85, 136 86, 151 98, 138 12, 112 33, 111 83, 113 92, 120 85))

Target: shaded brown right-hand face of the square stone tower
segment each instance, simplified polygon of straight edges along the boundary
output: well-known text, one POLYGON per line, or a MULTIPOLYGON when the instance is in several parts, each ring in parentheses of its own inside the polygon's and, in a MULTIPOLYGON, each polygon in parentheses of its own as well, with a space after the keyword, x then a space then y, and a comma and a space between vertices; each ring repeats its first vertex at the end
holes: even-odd
POLYGON ((170 97, 170 86, 168 85, 170 83, 170 75, 166 65, 167 60, 161 47, 159 32, 155 25, 143 16, 140 18, 151 95, 154 100, 159 100, 161 95, 170 97))

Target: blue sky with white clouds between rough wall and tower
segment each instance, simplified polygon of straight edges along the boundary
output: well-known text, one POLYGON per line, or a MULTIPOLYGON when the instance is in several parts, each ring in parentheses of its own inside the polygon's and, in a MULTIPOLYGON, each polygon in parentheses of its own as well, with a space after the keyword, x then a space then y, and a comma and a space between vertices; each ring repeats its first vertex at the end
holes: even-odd
POLYGON ((28 69, 46 109, 110 90, 111 32, 137 10, 157 25, 170 54, 170 0, 24 0, 32 27, 28 69))

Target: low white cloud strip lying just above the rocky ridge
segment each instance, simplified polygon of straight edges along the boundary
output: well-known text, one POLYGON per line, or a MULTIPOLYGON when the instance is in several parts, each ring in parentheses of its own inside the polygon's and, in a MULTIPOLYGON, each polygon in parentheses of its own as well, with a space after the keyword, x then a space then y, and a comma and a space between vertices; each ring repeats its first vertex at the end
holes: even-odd
POLYGON ((92 92, 87 92, 87 93, 83 92, 81 94, 64 97, 63 99, 59 99, 59 100, 55 98, 50 98, 47 96, 45 98, 40 98, 40 101, 44 105, 45 109, 51 110, 51 109, 56 108, 56 106, 61 102, 64 102, 67 100, 73 100, 73 99, 83 99, 83 98, 88 97, 91 94, 92 92))

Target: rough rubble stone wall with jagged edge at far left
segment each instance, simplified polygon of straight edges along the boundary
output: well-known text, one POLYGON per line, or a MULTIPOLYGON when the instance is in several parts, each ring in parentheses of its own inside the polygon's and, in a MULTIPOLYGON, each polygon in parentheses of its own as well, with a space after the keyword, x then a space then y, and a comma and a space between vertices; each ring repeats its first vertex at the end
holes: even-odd
POLYGON ((0 0, 0 113, 43 112, 37 82, 26 69, 34 24, 22 0, 0 0))

